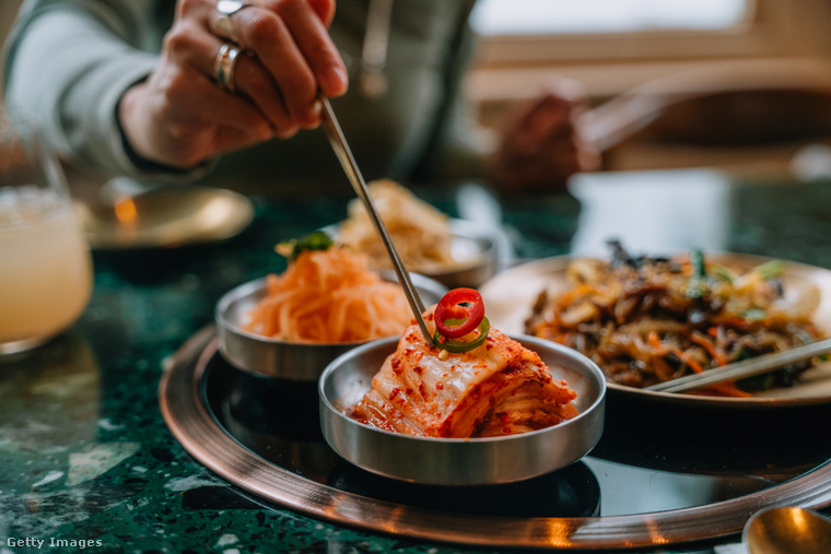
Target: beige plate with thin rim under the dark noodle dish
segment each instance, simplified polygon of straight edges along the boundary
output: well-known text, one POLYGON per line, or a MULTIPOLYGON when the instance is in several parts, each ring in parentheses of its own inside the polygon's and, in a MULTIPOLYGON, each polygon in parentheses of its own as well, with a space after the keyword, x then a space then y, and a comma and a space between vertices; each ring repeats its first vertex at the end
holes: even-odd
MULTIPOLYGON (((707 261, 748 271, 771 258, 733 252, 705 252, 707 261)), ((507 333, 525 332, 525 322, 531 316, 538 295, 547 290, 552 294, 565 292, 570 286, 565 272, 573 258, 563 256, 530 261, 506 270, 482 285, 480 292, 485 302, 491 323, 507 333)), ((831 270, 783 260, 785 291, 816 286, 820 292, 820 305, 814 321, 823 334, 831 332, 831 270)), ((641 390, 609 382, 609 391, 653 401, 687 404, 781 408, 818 403, 831 403, 831 364, 822 363, 804 373, 794 387, 759 392, 752 398, 705 397, 691 393, 670 393, 641 390)))

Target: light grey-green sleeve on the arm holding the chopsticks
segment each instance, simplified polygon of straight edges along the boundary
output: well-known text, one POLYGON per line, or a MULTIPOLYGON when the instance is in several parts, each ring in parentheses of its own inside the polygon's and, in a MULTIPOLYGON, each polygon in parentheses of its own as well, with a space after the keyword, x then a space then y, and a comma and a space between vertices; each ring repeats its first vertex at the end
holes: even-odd
POLYGON ((27 0, 21 9, 5 45, 5 102, 39 119, 61 157, 109 176, 183 177, 137 165, 116 116, 125 91, 157 60, 141 44, 153 36, 152 3, 27 0))

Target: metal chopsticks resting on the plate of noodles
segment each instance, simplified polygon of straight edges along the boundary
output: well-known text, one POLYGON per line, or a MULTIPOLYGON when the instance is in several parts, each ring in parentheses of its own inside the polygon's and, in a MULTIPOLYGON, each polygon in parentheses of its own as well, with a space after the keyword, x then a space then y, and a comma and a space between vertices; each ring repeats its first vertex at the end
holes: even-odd
POLYGON ((686 377, 679 377, 678 379, 659 382, 651 387, 644 387, 643 390, 684 392, 688 390, 700 389, 702 387, 718 385, 719 382, 763 375, 781 367, 785 367, 788 364, 818 356, 829 351, 831 351, 831 339, 823 339, 784 352, 765 354, 763 356, 727 364, 722 367, 714 367, 713 369, 707 369, 700 374, 688 375, 686 377))

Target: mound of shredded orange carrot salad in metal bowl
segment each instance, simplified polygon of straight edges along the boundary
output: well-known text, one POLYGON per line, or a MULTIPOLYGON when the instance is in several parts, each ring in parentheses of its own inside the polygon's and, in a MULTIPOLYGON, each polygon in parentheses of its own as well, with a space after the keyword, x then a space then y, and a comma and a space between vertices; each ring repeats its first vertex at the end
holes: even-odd
POLYGON ((244 329, 272 339, 370 341, 400 334, 412 317, 403 291, 343 247, 301 252, 284 273, 267 276, 267 287, 244 329))

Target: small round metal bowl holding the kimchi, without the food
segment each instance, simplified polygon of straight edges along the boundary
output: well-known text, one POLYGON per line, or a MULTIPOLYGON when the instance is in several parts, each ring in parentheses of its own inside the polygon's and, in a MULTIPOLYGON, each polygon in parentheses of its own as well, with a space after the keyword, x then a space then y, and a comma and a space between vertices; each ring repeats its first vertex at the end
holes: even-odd
POLYGON ((387 478, 431 485, 511 483, 565 468, 597 445, 604 429, 606 380, 597 365, 560 344, 516 338, 537 352, 554 378, 577 392, 578 415, 531 433, 492 438, 425 438, 356 422, 344 410, 370 389, 398 338, 374 341, 335 359, 320 376, 320 426, 347 461, 387 478))

